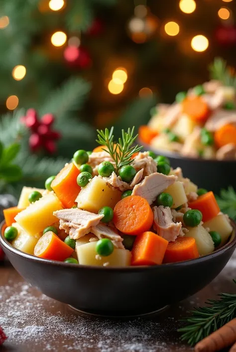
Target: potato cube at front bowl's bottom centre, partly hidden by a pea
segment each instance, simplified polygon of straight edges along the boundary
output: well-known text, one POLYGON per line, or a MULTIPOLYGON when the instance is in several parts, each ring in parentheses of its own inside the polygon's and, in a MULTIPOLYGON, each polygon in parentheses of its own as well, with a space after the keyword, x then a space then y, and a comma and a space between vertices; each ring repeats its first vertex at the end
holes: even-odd
POLYGON ((102 267, 104 263, 109 263, 112 267, 127 267, 131 262, 131 252, 127 249, 114 249, 113 253, 107 257, 96 259, 96 244, 90 242, 83 246, 77 247, 77 255, 81 265, 96 265, 102 267))

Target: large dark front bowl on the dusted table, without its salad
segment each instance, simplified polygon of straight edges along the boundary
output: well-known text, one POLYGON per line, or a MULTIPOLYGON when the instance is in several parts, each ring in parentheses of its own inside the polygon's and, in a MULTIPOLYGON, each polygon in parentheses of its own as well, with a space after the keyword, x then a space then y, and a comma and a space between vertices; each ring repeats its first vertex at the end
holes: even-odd
POLYGON ((18 273, 46 296, 89 314, 137 316, 181 301, 209 284, 236 248, 233 221, 232 226, 229 242, 214 253, 152 267, 104 268, 45 260, 13 248, 3 231, 0 245, 18 273))

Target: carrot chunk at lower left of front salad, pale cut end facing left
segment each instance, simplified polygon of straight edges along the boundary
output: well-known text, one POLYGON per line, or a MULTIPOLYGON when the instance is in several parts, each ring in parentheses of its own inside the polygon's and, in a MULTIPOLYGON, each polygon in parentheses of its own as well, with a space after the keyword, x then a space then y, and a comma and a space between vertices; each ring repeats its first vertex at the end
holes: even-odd
POLYGON ((73 248, 65 244, 52 231, 46 232, 36 243, 34 255, 36 257, 63 261, 74 252, 73 248))

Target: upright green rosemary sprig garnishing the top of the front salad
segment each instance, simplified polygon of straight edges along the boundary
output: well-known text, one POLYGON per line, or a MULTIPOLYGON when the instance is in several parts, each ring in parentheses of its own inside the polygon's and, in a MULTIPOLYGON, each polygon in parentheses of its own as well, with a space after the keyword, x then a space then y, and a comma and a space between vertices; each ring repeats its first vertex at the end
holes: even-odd
POLYGON ((131 156, 139 152, 142 147, 138 145, 133 146, 133 142, 137 138, 137 135, 133 135, 134 127, 132 129, 128 128, 127 132, 124 132, 122 129, 122 138, 118 139, 117 144, 114 142, 113 131, 114 127, 112 127, 110 131, 108 128, 106 128, 105 131, 97 130, 98 139, 96 142, 107 147, 107 150, 103 150, 111 155, 116 163, 116 172, 118 172, 122 166, 131 163, 131 156))

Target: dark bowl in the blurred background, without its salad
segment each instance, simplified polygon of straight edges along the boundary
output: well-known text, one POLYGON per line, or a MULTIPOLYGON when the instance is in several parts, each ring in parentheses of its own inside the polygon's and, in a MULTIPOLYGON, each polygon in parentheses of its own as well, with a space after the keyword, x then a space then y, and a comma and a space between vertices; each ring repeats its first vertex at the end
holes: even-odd
POLYGON ((190 178, 198 187, 206 188, 219 194, 222 188, 233 186, 236 189, 236 160, 216 160, 188 158, 175 152, 152 148, 138 141, 144 150, 152 150, 156 155, 164 155, 170 159, 175 169, 181 167, 184 177, 190 178))

